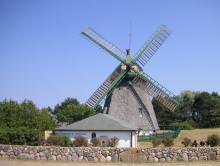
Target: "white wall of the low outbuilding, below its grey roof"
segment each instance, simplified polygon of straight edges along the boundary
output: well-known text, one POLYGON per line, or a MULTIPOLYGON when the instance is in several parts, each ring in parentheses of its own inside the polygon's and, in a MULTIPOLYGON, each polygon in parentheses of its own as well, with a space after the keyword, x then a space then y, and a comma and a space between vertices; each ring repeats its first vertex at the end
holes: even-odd
POLYGON ((117 137, 119 139, 117 147, 136 147, 137 145, 137 135, 135 132, 131 135, 130 131, 55 131, 57 135, 65 135, 71 140, 74 140, 77 136, 85 137, 88 142, 91 140, 91 134, 95 132, 96 137, 107 136, 108 138, 117 137))

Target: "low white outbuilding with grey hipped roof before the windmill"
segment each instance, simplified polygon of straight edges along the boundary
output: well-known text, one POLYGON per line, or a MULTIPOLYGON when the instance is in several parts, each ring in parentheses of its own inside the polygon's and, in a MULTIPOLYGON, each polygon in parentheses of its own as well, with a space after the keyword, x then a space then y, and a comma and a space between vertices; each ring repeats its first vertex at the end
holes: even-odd
POLYGON ((138 128, 108 114, 96 114, 78 122, 56 128, 56 135, 65 135, 71 140, 81 136, 88 140, 118 138, 117 147, 137 147, 138 128))

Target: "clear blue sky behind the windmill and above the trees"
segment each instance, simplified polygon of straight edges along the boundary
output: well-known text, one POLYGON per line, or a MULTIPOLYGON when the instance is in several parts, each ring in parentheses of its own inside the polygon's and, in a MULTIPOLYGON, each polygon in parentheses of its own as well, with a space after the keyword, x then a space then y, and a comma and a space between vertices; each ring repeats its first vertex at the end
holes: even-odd
POLYGON ((134 55, 160 24, 172 35, 144 71, 175 94, 220 93, 218 0, 0 0, 0 100, 85 102, 119 63, 85 40, 91 26, 134 55))

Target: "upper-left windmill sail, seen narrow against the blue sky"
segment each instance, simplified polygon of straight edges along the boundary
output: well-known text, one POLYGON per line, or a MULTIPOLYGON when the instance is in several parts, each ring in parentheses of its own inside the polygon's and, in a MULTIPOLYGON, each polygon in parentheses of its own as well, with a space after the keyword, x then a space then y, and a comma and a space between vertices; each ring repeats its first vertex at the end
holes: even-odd
POLYGON ((105 40, 101 35, 95 32, 92 28, 88 28, 85 31, 81 32, 82 35, 93 41, 95 44, 100 46, 102 49, 106 50, 113 57, 123 63, 123 59, 126 56, 125 52, 120 50, 118 47, 105 40))

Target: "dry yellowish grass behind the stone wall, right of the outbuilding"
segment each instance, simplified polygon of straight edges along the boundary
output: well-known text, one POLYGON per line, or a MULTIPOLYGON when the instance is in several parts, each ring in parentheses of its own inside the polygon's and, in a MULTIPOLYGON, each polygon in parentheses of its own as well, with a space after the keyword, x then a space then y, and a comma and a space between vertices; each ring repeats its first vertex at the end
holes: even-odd
MULTIPOLYGON (((190 138, 192 141, 196 140, 198 143, 200 141, 205 141, 208 135, 217 134, 220 136, 220 128, 215 129, 194 129, 194 130, 181 130, 179 136, 174 140, 175 147, 183 147, 181 142, 185 137, 190 138)), ((138 142, 138 147, 140 148, 151 148, 151 142, 138 142)))

